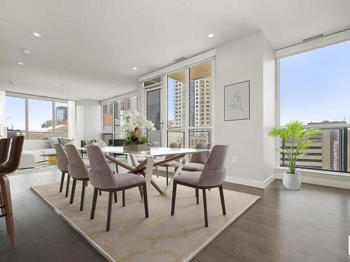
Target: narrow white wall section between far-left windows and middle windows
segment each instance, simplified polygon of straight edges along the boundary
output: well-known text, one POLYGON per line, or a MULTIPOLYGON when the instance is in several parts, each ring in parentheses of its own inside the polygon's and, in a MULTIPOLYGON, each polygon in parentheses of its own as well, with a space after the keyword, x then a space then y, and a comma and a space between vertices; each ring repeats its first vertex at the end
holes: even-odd
POLYGON ((102 132, 102 112, 99 101, 83 99, 76 102, 76 141, 99 140, 102 132))

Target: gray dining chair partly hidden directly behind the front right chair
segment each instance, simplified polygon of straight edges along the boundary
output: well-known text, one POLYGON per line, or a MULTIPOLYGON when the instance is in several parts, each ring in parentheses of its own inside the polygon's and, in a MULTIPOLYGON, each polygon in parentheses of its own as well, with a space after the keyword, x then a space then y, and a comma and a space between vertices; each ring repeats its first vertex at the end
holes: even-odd
MULTIPOLYGON (((210 143, 197 143, 195 148, 198 149, 206 149, 209 150, 211 147, 210 143)), ((192 154, 190 161, 187 161, 182 170, 189 172, 197 172, 203 171, 205 164, 207 163, 207 159, 209 157, 209 152, 200 152, 192 154)))

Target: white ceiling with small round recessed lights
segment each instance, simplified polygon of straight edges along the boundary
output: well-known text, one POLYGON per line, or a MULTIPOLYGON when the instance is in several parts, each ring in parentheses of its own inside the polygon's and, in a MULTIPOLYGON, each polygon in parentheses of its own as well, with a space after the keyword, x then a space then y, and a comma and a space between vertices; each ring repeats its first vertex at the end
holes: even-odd
POLYGON ((278 49, 347 29, 349 14, 349 0, 0 0, 0 89, 108 99, 179 57, 258 31, 278 49))

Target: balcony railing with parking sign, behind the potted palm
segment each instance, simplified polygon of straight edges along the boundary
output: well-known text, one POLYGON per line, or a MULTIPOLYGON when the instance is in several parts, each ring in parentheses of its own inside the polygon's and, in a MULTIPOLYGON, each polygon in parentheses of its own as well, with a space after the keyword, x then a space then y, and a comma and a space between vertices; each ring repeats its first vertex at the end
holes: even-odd
MULTIPOLYGON (((304 156, 297 161, 299 168, 350 172, 349 124, 337 126, 308 125, 321 129, 321 133, 309 138, 311 147, 304 150, 304 156)), ((281 148, 286 145, 281 143, 281 148)), ((281 166, 286 166, 286 156, 281 153, 281 166)))

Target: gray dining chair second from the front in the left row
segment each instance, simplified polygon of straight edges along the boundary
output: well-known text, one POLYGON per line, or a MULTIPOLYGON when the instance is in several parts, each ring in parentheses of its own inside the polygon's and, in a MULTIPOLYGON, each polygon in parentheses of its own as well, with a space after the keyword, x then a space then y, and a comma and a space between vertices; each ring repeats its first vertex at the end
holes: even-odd
POLYGON ((80 211, 84 208, 85 187, 89 180, 87 167, 83 159, 80 157, 78 150, 74 145, 65 145, 66 155, 68 157, 67 170, 71 178, 73 178, 73 184, 71 186, 71 201, 73 203, 74 194, 76 192, 76 181, 82 181, 81 199, 80 199, 80 211))

